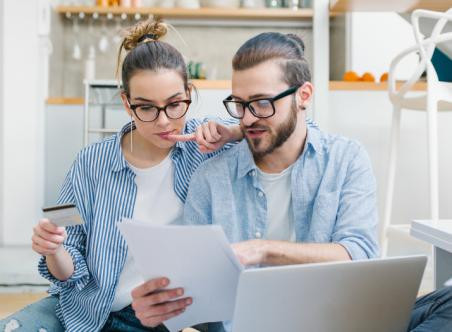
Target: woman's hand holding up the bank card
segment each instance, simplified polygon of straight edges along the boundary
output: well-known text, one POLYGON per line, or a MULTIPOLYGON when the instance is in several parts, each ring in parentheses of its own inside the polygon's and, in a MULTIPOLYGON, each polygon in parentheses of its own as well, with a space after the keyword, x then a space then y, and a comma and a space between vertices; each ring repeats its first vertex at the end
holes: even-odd
POLYGON ((52 224, 49 219, 41 219, 33 228, 32 248, 43 256, 56 255, 62 249, 65 238, 66 231, 63 227, 52 224))

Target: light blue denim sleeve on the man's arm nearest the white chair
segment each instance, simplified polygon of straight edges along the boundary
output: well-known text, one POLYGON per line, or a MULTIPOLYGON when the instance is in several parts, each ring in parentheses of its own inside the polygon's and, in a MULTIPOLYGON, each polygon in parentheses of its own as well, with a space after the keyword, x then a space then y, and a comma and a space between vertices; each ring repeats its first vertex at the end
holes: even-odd
POLYGON ((332 241, 341 244, 353 260, 378 256, 376 180, 361 145, 352 155, 339 197, 332 241))

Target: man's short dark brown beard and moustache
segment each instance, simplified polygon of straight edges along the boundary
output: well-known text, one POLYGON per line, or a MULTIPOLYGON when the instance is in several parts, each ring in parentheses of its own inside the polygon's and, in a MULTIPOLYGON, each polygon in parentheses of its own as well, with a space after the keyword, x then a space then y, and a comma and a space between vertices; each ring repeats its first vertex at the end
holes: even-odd
POLYGON ((284 142, 286 142, 287 139, 295 131, 296 126, 297 126, 297 112, 295 110, 295 107, 291 107, 290 115, 288 116, 287 120, 281 123, 275 130, 272 130, 267 126, 261 126, 258 123, 255 123, 249 127, 243 127, 241 125, 240 128, 242 129, 243 135, 246 137, 248 146, 250 147, 250 150, 253 153, 254 160, 257 162, 267 154, 272 153, 275 149, 283 145, 284 142), (245 135, 245 131, 247 129, 253 128, 264 129, 267 131, 267 133, 270 134, 269 137, 270 142, 266 148, 261 150, 259 149, 259 145, 263 144, 264 139, 248 138, 248 136, 245 135))

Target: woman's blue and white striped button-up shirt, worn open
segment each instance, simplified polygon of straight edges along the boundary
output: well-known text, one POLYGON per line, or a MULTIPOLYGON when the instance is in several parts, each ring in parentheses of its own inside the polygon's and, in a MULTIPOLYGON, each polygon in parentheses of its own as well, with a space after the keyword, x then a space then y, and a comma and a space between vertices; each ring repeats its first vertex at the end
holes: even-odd
MULTIPOLYGON (((194 132, 200 124, 199 120, 188 120, 184 133, 194 132)), ((49 293, 59 296, 56 314, 66 331, 98 331, 110 314, 127 256, 126 242, 116 225, 123 217, 132 217, 137 193, 135 174, 121 151, 121 138, 128 131, 130 125, 84 148, 69 170, 58 199, 58 204, 75 204, 84 220, 83 225, 66 229, 63 245, 74 262, 70 279, 56 279, 45 257, 38 266, 39 273, 52 283, 49 293)), ((196 142, 176 143, 171 152, 174 190, 182 202, 193 172, 220 151, 202 154, 196 142)))

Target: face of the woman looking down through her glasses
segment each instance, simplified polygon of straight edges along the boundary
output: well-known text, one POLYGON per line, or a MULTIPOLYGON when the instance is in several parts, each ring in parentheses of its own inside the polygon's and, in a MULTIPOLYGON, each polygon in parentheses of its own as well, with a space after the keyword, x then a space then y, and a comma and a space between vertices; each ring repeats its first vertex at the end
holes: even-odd
POLYGON ((152 119, 155 108, 169 105, 167 113, 176 117, 188 105, 178 101, 190 99, 189 92, 184 88, 184 81, 175 70, 162 69, 157 72, 141 70, 133 74, 129 80, 130 95, 122 95, 124 105, 129 115, 132 115, 136 130, 146 141, 156 147, 171 148, 175 143, 166 139, 168 134, 181 134, 185 125, 185 116, 170 119, 165 112, 160 111, 158 117, 151 122, 142 119, 152 119), (130 103, 130 104, 129 104, 130 103), (134 113, 130 105, 140 105, 134 113))

